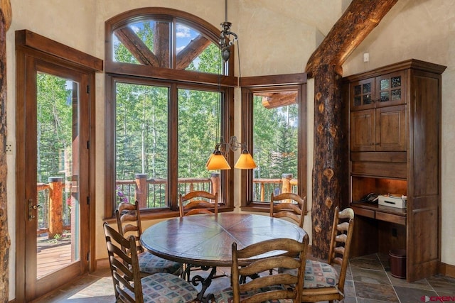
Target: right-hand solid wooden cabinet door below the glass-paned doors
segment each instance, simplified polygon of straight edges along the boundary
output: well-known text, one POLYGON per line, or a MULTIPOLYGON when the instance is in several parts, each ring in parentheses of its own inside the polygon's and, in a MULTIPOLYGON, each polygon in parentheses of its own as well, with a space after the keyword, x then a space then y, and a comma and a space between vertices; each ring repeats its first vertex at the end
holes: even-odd
POLYGON ((376 109, 376 151, 406 151, 406 105, 376 109))

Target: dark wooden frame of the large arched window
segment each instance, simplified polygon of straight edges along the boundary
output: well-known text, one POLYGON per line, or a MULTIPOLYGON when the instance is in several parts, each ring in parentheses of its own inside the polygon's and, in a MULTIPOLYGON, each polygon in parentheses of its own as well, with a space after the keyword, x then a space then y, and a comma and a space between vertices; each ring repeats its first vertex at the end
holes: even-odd
MULTIPOLYGON (((230 138, 234 130, 234 87, 237 86, 237 77, 234 77, 235 55, 232 54, 225 63, 225 75, 215 75, 190 70, 175 70, 173 68, 153 67, 150 65, 134 65, 125 62, 113 61, 112 35, 117 28, 129 23, 148 20, 163 20, 171 22, 175 28, 176 23, 185 24, 203 34, 211 42, 218 45, 220 31, 203 19, 176 9, 144 8, 134 9, 110 18, 105 23, 105 219, 112 219, 116 207, 115 197, 115 91, 116 83, 134 83, 154 85, 160 84, 170 89, 170 104, 168 114, 168 133, 176 133, 178 128, 178 104, 177 88, 204 89, 219 91, 224 96, 221 102, 220 113, 220 136, 230 138), (175 94, 175 95, 173 95, 175 94)), ((171 45, 175 45, 175 35, 171 38, 171 45)), ((171 48, 171 67, 175 67, 175 46, 171 48)), ((215 142, 213 143, 215 145, 215 142)), ((212 150, 207 151, 207 157, 212 150)), ((172 164, 169 159, 177 159, 178 138, 168 136, 168 208, 141 210, 144 219, 161 219, 178 216, 178 172, 176 163, 172 164)), ((233 167, 233 153, 228 157, 233 167)), ((221 171, 221 193, 219 194, 223 206, 220 211, 234 209, 233 197, 233 172, 232 170, 221 171)))

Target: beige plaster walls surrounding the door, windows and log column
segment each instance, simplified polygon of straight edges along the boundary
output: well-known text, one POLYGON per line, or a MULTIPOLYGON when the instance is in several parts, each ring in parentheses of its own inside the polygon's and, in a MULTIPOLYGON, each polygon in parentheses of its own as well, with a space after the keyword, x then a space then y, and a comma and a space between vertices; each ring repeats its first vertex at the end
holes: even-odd
MULTIPOLYGON (((349 0, 230 0, 228 19, 232 31, 239 35, 242 76, 272 75, 304 72, 306 61, 321 42, 323 35, 346 9, 349 0)), ((455 147, 451 130, 455 106, 451 101, 455 89, 451 82, 455 77, 453 42, 455 9, 452 1, 446 0, 400 0, 382 23, 350 56, 343 66, 345 75, 370 70, 381 65, 409 59, 429 60, 449 68, 443 74, 443 236, 442 261, 455 265, 455 236, 451 233, 455 224, 455 204, 450 197, 455 194, 455 160, 449 152, 455 147), (369 51, 370 62, 364 64, 363 52, 369 51)), ((7 33, 7 123, 8 141, 15 143, 15 56, 14 31, 28 29, 56 40, 85 53, 104 59, 105 21, 112 16, 148 6, 161 6, 187 11, 219 28, 224 21, 223 0, 11 0, 13 21, 7 33), (197 4, 197 5, 196 5, 197 4)), ((105 258, 105 242, 102 236, 104 212, 104 76, 97 75, 96 88, 96 258, 105 258)), ((313 159, 313 87, 309 81, 309 184, 311 193, 311 169, 313 159)), ((236 92, 237 94, 238 92, 236 92)), ((237 94, 238 95, 238 94, 237 94)), ((236 104, 239 104, 236 100, 236 104)), ((240 108, 236 109, 236 115, 240 108)), ((240 121, 240 119, 237 119, 240 121)), ((240 126, 236 125, 236 133, 240 126)), ((10 250, 10 299, 14 298, 15 264, 15 158, 7 157, 8 172, 8 217, 11 236, 10 250)), ((236 185, 239 185, 238 173, 236 185)), ((238 187, 238 186, 237 186, 238 187)), ((238 197, 238 193, 237 196, 238 197)), ((309 194, 311 204, 311 194, 309 194)), ((238 201, 239 199, 237 199, 238 201)), ((148 224, 152 224, 149 222, 148 224)), ((145 224, 145 225, 148 225, 145 224)), ((304 228, 311 234, 311 220, 304 228)))

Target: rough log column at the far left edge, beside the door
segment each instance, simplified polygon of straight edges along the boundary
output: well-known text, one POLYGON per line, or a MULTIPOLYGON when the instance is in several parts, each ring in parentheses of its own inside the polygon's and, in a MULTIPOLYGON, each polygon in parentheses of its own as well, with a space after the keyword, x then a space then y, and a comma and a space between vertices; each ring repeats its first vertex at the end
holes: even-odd
POLYGON ((0 1, 0 302, 8 302, 9 246, 8 199, 6 197, 6 31, 11 25, 11 4, 0 1))

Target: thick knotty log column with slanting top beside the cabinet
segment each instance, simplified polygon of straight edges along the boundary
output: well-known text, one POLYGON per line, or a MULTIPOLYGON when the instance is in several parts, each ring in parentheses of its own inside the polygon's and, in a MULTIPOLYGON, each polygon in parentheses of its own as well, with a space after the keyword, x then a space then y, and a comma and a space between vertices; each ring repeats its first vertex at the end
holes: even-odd
MULTIPOLYGON (((346 58, 378 26, 398 0, 353 0, 306 64, 309 78, 314 77, 314 168, 311 219, 311 253, 326 259, 329 232, 335 206, 341 204, 341 184, 348 173, 342 155, 349 152, 343 143, 341 83, 346 58)), ((346 124, 345 124, 346 125, 346 124)))

